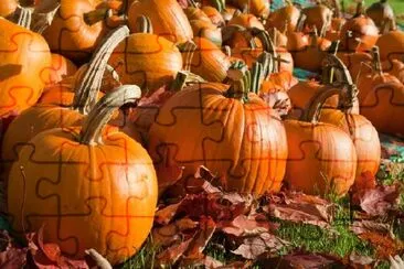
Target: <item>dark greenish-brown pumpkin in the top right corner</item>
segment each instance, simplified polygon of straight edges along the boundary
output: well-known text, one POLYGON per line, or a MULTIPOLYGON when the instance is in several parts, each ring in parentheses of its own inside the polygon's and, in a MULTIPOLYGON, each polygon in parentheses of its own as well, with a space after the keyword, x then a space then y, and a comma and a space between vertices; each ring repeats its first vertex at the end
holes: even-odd
POLYGON ((374 21, 382 33, 396 30, 394 12, 387 0, 372 3, 366 9, 366 15, 374 21))

